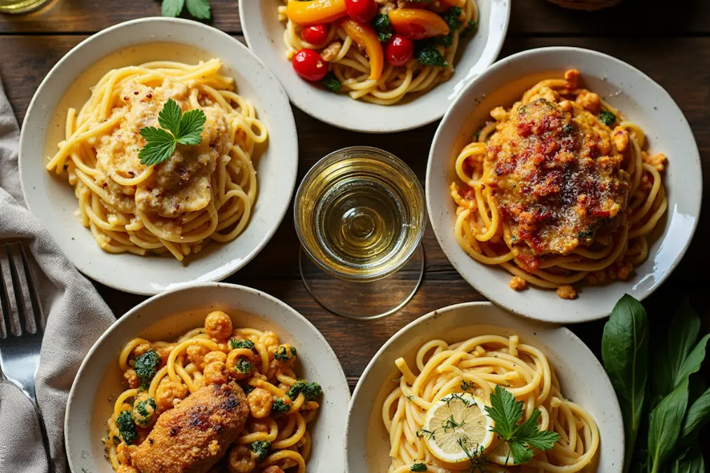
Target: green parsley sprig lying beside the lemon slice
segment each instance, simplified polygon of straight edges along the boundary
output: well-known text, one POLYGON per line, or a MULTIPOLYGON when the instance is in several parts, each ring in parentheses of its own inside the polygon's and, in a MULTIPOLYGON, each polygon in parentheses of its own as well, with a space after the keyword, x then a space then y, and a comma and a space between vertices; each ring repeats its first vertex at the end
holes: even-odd
POLYGON ((535 456, 533 448, 550 450, 559 440, 559 434, 548 430, 540 430, 537 421, 540 411, 535 409, 525 422, 523 419, 523 401, 515 401, 515 396, 505 388, 496 386, 491 394, 491 407, 486 406, 486 413, 496 423, 493 432, 508 444, 513 463, 521 464, 532 460, 535 456))

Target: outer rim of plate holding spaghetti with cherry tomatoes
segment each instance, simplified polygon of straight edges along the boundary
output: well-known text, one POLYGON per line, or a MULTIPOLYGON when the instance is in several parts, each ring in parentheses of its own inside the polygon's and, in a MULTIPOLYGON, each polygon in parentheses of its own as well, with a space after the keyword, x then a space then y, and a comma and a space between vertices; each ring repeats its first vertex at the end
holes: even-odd
MULTIPOLYGON (((238 0, 238 1, 239 1, 239 18, 243 18, 242 35, 244 35, 244 39, 246 40, 246 44, 249 45, 249 49, 253 49, 253 44, 254 44, 253 40, 256 35, 251 36, 251 33, 249 33, 249 27, 247 26, 249 24, 249 21, 244 21, 244 18, 246 18, 246 16, 243 14, 244 9, 246 9, 245 5, 247 4, 247 2, 249 2, 249 4, 258 5, 255 8, 258 8, 258 11, 261 12, 261 11, 263 11, 262 7, 261 7, 261 4, 263 1, 279 1, 279 0, 238 0)), ((510 26, 510 11, 512 9, 512 4, 513 4, 513 0, 490 0, 490 1, 491 1, 492 7, 498 7, 498 4, 502 4, 501 7, 504 8, 506 11, 506 18, 505 18, 505 21, 503 22, 503 25, 502 25, 503 28, 502 28, 500 35, 499 35, 500 38, 498 40, 498 44, 496 45, 495 48, 493 48, 491 58, 488 61, 488 64, 486 65, 486 67, 482 68, 481 71, 485 71, 489 67, 491 67, 491 65, 495 64, 496 60, 498 60, 498 57, 501 54, 501 50, 503 50, 503 45, 506 43, 506 39, 508 37, 508 28, 510 26)), ((498 8, 501 8, 501 7, 498 7, 498 8)), ((489 37, 490 36, 491 35, 489 35, 489 37)), ((486 38, 486 41, 487 40, 488 40, 488 38, 486 38)), ((271 42, 273 43, 273 41, 271 41, 271 42)), ((282 60, 285 60, 285 59, 282 58, 282 60)), ((483 72, 481 72, 481 73, 483 73, 483 72)), ((274 72, 274 75, 277 78, 277 80, 279 80, 281 82, 281 79, 276 74, 276 72, 274 72)), ((466 77, 462 81, 466 81, 466 82, 470 83, 471 77, 466 77)), ((443 85, 447 84, 448 82, 449 81, 440 83, 437 85, 437 87, 442 87, 443 85)), ((452 82, 452 84, 456 85, 456 83, 454 83, 454 82, 452 82)), ((394 127, 388 128, 388 129, 381 129, 381 127, 378 127, 378 126, 368 126, 368 124, 367 124, 368 122, 366 122, 366 121, 362 122, 363 123, 362 126, 351 126, 345 122, 339 121, 339 119, 337 119, 337 117, 335 117, 333 119, 324 119, 322 116, 319 116, 317 114, 317 112, 315 112, 311 107, 304 107, 303 106, 303 104, 305 102, 307 102, 307 98, 302 97, 300 94, 298 94, 297 97, 295 97, 295 98, 291 97, 291 94, 289 91, 292 88, 287 87, 286 85, 284 85, 283 82, 281 82, 281 85, 282 85, 283 89, 285 89, 286 94, 288 95, 288 98, 295 105, 295 107, 297 107, 297 109, 299 109, 301 112, 304 112, 308 116, 311 116, 312 118, 314 118, 318 121, 321 121, 324 124, 335 126, 339 129, 343 129, 346 131, 356 131, 359 133, 367 133, 367 134, 393 134, 393 133, 399 133, 401 131, 410 131, 410 130, 418 129, 418 128, 421 128, 422 126, 432 124, 433 122, 435 122, 439 119, 442 119, 442 117, 450 109, 451 104, 456 101, 457 97, 459 97, 459 95, 467 87, 467 85, 464 87, 461 87, 461 90, 459 90, 459 91, 452 88, 452 91, 449 94, 449 97, 452 97, 452 101, 449 102, 449 105, 447 107, 443 107, 441 110, 439 110, 438 112, 436 112, 432 116, 427 116, 425 119, 419 119, 419 120, 413 122, 412 124, 408 124, 405 126, 394 126, 394 127)), ((356 101, 356 102, 360 102, 360 101, 356 101)), ((372 105, 374 105, 374 104, 372 104, 372 105)), ((378 106, 378 107, 386 107, 386 106, 378 106)), ((426 111, 427 109, 428 109, 428 107, 423 108, 421 110, 426 111)))

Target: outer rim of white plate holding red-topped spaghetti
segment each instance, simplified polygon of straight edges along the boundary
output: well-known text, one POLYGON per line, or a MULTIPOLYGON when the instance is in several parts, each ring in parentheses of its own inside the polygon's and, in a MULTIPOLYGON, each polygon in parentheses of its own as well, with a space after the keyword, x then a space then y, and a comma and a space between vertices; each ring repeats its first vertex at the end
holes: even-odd
MULTIPOLYGON (((523 312, 522 310, 519 310, 516 308, 514 305, 511 305, 510 303, 507 302, 507 298, 505 297, 493 297, 494 294, 493 288, 491 287, 482 287, 481 283, 478 283, 475 281, 475 279, 472 276, 466 276, 464 274, 464 271, 459 268, 459 262, 455 261, 454 257, 449 254, 449 251, 444 246, 444 239, 441 232, 439 232, 440 229, 437 229, 437 222, 434 217, 434 213, 432 212, 432 198, 430 197, 430 190, 431 190, 431 185, 430 181, 435 179, 434 173, 435 171, 433 170, 433 165, 432 162, 434 161, 434 154, 435 154, 435 148, 437 147, 437 143, 439 142, 440 136, 444 133, 444 127, 447 125, 447 122, 449 120, 452 120, 452 116, 454 114, 454 108, 456 108, 459 103, 461 102, 461 98, 464 97, 464 95, 468 94, 471 89, 476 87, 477 83, 479 80, 481 80, 481 77, 484 77, 486 75, 491 75, 498 70, 501 70, 503 67, 510 67, 510 63, 514 63, 515 61, 519 60, 520 58, 528 57, 528 56, 535 56, 535 55, 545 55, 548 53, 552 54, 558 54, 558 53, 576 53, 578 55, 591 55, 591 56, 596 56, 597 58, 601 58, 603 60, 609 60, 611 62, 616 63, 617 66, 619 67, 625 67, 626 69, 630 70, 630 72, 633 72, 634 74, 638 75, 641 79, 645 80, 648 82, 648 84, 651 85, 651 87, 656 89, 657 94, 660 94, 661 96, 665 96, 667 100, 670 101, 670 103, 677 109, 678 116, 681 118, 681 125, 682 127, 688 132, 689 136, 692 137, 692 141, 690 146, 692 146, 691 150, 694 151, 694 153, 691 153, 692 156, 689 156, 692 158, 692 164, 695 166, 697 169, 697 173, 692 173, 696 176, 696 185, 697 189, 699 190, 699 195, 697 198, 697 208, 695 209, 694 215, 696 216, 693 224, 692 224, 692 229, 689 232, 689 237, 684 241, 684 245, 682 249, 678 252, 677 256, 675 257, 672 265, 666 271, 663 273, 660 278, 653 284, 653 286, 645 291, 643 295, 640 295, 640 298, 638 299, 639 301, 645 300, 645 298, 648 298, 648 296, 652 295, 652 293, 655 292, 660 286, 662 286, 663 283, 667 280, 667 278, 671 275, 671 273, 677 268, 679 263, 682 261, 683 257, 685 256, 687 249, 689 248, 690 244, 692 243, 693 237, 695 235, 695 232, 697 230, 698 222, 699 222, 699 216, 700 216, 700 210, 701 210, 701 204, 702 204, 702 188, 703 188, 703 182, 702 182, 702 167, 701 167, 701 160, 700 160, 700 152, 699 148, 697 145, 697 140, 695 139, 695 135, 693 133, 692 128, 690 127, 690 124, 688 123, 687 118, 685 117, 685 114, 683 113, 682 109, 678 106, 677 102, 673 99, 673 97, 670 95, 670 93, 667 92, 666 89, 664 89, 660 84, 658 84, 655 80, 653 80, 649 75, 645 74, 642 70, 638 69, 638 67, 634 67, 633 65, 630 65, 628 62, 625 62, 621 59, 615 58, 612 55, 608 55, 606 53, 601 53, 596 50, 591 50, 588 48, 579 48, 576 46, 543 46, 540 48, 532 48, 528 50, 523 50, 518 53, 515 53, 513 55, 510 55, 506 58, 503 58, 501 60, 498 60, 497 62, 494 62, 493 65, 488 67, 486 71, 481 73, 478 77, 474 78, 469 85, 466 86, 464 90, 461 91, 461 93, 458 95, 456 99, 454 99, 454 103, 452 103, 451 107, 447 110, 447 113, 444 114, 444 118, 442 121, 439 123, 439 126, 437 126, 437 131, 434 134, 434 138, 432 139, 432 144, 430 146, 430 151, 429 155, 427 157, 427 169, 425 172, 425 194, 426 194, 426 202, 427 202, 427 213, 429 214, 429 220, 430 224, 432 225, 432 229, 434 230, 434 234, 437 238, 437 242, 439 243, 439 247, 442 249, 444 254, 446 255, 449 263, 454 266, 456 269, 457 273, 461 276, 461 278, 464 278, 464 280, 469 283, 469 285, 474 288, 476 291, 478 291, 481 295, 483 295, 486 299, 490 300, 492 303, 500 306, 504 310, 507 310, 508 312, 512 312, 515 315, 519 315, 520 317, 524 317, 530 320, 537 320, 540 322, 549 322, 549 323, 554 323, 554 324, 577 324, 577 323, 582 323, 582 322, 591 322, 594 320, 600 320, 605 317, 608 317, 608 315, 611 312, 594 312, 594 313, 586 313, 586 312, 580 312, 579 315, 575 317, 569 317, 569 315, 561 315, 561 316, 556 316, 556 317, 540 317, 535 314, 531 314, 530 312, 523 312)), ((469 112, 469 116, 473 113, 473 111, 469 112)), ((441 146, 441 145, 439 145, 441 146)), ((659 239, 658 241, 663 241, 663 239, 659 239)), ((489 268, 490 270, 497 270, 498 268, 494 268, 491 266, 489 268)), ((536 289, 536 288, 535 288, 536 289)), ((572 301, 574 302, 574 301, 572 301)), ((589 312, 589 311, 588 311, 589 312)), ((569 312, 572 313, 572 312, 569 312)))

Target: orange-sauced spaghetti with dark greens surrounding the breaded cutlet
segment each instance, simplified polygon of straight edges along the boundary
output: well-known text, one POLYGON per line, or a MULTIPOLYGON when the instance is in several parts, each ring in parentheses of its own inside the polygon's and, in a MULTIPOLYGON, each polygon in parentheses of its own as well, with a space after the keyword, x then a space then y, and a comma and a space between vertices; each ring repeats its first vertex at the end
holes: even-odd
MULTIPOLYGON (((129 467, 136 445, 146 440, 156 418, 180 401, 204 386, 238 382, 247 394, 249 418, 229 446, 229 453, 210 471, 273 473, 295 468, 293 471, 305 473, 312 447, 307 424, 315 418, 319 405, 314 398, 322 390, 298 379, 293 371, 295 359, 295 348, 281 344, 275 333, 233 329, 229 316, 220 311, 207 315, 204 327, 190 330, 176 342, 132 339, 119 355, 128 386, 116 398, 103 439, 112 467, 117 472, 121 467, 133 472, 129 467), (146 379, 141 377, 141 365, 143 357, 151 354, 157 354, 159 363, 153 376, 146 379), (153 406, 147 414, 141 412, 145 402, 153 406), (136 425, 136 438, 128 441, 119 420, 126 411, 136 425)), ((181 428, 189 429, 190 425, 181 428)), ((212 444, 197 448, 202 447, 214 448, 212 444)))

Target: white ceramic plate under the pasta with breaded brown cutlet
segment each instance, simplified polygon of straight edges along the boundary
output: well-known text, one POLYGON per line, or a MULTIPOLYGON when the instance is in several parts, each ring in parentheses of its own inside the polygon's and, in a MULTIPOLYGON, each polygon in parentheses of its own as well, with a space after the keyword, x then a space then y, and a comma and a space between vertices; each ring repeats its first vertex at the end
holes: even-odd
POLYGON ((69 393, 65 442, 72 472, 113 473, 101 441, 113 401, 124 390, 118 357, 134 337, 170 341, 204 325, 212 310, 224 310, 234 327, 272 330, 298 349, 296 372, 323 388, 322 406, 309 424, 311 473, 342 472, 342 438, 350 390, 333 350, 298 312, 271 295, 244 286, 204 283, 156 295, 136 306, 97 340, 82 362, 69 393))

